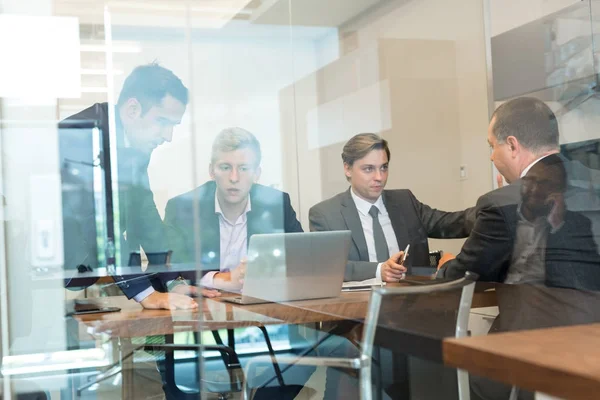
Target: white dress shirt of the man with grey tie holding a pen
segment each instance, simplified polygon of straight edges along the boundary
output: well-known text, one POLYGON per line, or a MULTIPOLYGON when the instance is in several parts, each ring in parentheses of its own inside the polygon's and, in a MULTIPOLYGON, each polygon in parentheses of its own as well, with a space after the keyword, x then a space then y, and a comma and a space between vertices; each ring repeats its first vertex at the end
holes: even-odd
MULTIPOLYGON (((377 252, 375 251, 375 238, 373 237, 373 217, 369 214, 369 210, 371 206, 375 206, 379 209, 379 224, 383 229, 383 235, 385 236, 385 241, 388 245, 388 253, 389 255, 396 254, 400 251, 398 248, 398 241, 396 240, 396 234, 394 233, 394 228, 392 227, 392 221, 390 220, 390 216, 385 208, 385 204, 383 204, 383 198, 379 196, 377 201, 374 204, 358 197, 354 190, 350 189, 350 194, 352 195, 352 200, 354 200, 354 204, 356 205, 356 209, 358 210, 358 216, 360 217, 360 223, 363 227, 363 233, 365 234, 365 240, 367 241, 367 249, 369 251, 369 261, 377 262, 377 252)), ((375 278, 377 280, 381 280, 381 264, 377 265, 377 272, 375 273, 375 278)))

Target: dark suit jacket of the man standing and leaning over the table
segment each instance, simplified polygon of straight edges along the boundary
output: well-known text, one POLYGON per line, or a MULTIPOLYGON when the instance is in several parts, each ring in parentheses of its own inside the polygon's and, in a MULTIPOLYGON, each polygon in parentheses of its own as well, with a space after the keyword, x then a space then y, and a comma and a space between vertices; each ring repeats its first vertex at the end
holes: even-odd
MULTIPOLYGON (((61 123, 62 126, 69 126, 70 129, 61 129, 59 143, 61 149, 61 158, 75 158, 78 161, 92 162, 92 140, 90 132, 80 130, 85 138, 77 138, 77 126, 89 126, 94 124, 100 129, 103 144, 109 143, 110 131, 108 122, 108 104, 94 104, 93 106, 67 118, 61 123), (70 134, 67 134, 69 133, 70 134), (75 135, 73 135, 75 133, 75 135)), ((59 125, 60 127, 60 125, 59 125)), ((119 193, 119 209, 115 209, 115 218, 119 217, 120 230, 115 231, 115 241, 120 242, 121 258, 116 260, 118 266, 126 266, 129 253, 139 251, 140 246, 146 252, 166 251, 167 241, 164 232, 164 226, 156 204, 154 196, 150 190, 148 179, 148 163, 150 157, 146 154, 137 152, 135 149, 126 148, 123 138, 123 129, 117 115, 116 121, 116 148, 117 148, 117 171, 119 193), (124 232, 127 232, 125 239, 124 232)), ((104 151, 104 171, 107 171, 108 156, 104 151)), ((74 165, 79 169, 88 168, 91 173, 91 167, 82 167, 74 165)), ((115 171, 111 174, 114 176, 115 171)), ((63 174, 63 185, 65 174, 63 174)), ((69 187, 72 187, 69 186, 69 187)), ((64 191, 63 191, 64 192, 64 191)), ((72 196, 71 196, 72 197, 72 196)), ((73 208, 68 199, 71 198, 67 191, 67 201, 63 200, 63 213, 73 215, 65 227, 65 249, 68 249, 68 257, 65 260, 65 266, 72 268, 77 264, 92 264, 90 262, 97 257, 96 248, 96 211, 94 208, 93 193, 88 196, 82 196, 83 201, 78 201, 77 207, 73 208), (93 255, 93 256, 91 256, 93 255)), ((151 280, 143 275, 138 276, 113 276, 121 290, 132 298, 154 283, 155 288, 162 288, 163 282, 151 280), (135 279, 134 279, 135 278, 135 279)), ((161 280, 168 280, 171 276, 163 276, 161 280)), ((93 283, 93 282, 91 282, 93 283)))

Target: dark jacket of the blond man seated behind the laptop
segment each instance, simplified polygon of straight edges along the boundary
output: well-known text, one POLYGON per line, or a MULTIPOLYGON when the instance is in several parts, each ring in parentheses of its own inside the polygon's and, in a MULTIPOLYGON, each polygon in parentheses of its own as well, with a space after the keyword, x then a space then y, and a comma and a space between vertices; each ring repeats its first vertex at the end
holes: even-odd
MULTIPOLYGON (((216 184, 209 181, 198 188, 172 198, 165 211, 165 226, 172 259, 178 263, 196 261, 194 224, 199 225, 200 261, 203 270, 219 270, 221 240, 219 217, 215 213, 216 184), (197 206, 199 218, 194 211, 197 206)), ((303 232, 287 193, 254 184, 250 189, 248 243, 257 233, 303 232)))

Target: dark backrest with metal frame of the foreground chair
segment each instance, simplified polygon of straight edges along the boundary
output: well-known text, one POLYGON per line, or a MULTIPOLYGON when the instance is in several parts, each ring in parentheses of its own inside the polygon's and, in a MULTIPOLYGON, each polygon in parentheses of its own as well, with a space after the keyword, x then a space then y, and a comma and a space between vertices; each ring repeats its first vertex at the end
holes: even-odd
POLYGON ((362 357, 375 343, 395 352, 442 361, 442 341, 467 335, 469 312, 478 276, 467 272, 453 281, 377 288, 365 320, 362 357))

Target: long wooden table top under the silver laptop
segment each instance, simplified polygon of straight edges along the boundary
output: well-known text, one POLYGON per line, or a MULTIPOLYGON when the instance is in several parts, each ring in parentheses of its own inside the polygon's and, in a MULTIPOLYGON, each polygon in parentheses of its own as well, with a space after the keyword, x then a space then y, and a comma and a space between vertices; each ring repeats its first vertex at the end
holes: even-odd
MULTIPOLYGON (((392 284, 390 286, 397 286, 392 284)), ((484 287, 483 289, 489 287, 484 287)), ((473 307, 496 304, 493 290, 478 291, 473 307)), ((78 315, 91 334, 105 333, 119 337, 165 335, 190 330, 215 330, 272 324, 306 324, 324 321, 364 320, 371 293, 342 292, 329 299, 302 300, 288 303, 237 305, 221 298, 203 299, 199 311, 144 310, 125 296, 98 299, 105 306, 119 307, 120 312, 78 315)), ((235 296, 224 293, 223 297, 235 296)))

